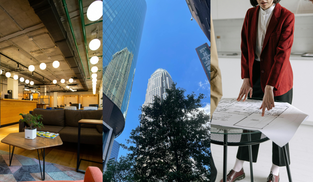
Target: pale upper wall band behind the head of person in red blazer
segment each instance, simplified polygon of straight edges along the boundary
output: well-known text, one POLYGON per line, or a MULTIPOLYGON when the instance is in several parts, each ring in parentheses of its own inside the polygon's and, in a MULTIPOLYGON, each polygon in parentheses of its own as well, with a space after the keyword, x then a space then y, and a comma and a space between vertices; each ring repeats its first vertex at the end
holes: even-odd
MULTIPOLYGON (((304 0, 282 0, 280 5, 292 13, 313 13, 313 4, 304 0)), ((244 18, 252 8, 249 0, 211 0, 212 19, 244 18)), ((215 28, 215 27, 214 27, 215 28)))

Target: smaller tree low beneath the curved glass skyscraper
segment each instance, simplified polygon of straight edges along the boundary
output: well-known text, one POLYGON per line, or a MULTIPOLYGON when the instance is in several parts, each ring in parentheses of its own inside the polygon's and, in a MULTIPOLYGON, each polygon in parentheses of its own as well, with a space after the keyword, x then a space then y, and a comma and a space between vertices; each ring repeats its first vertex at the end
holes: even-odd
POLYGON ((131 156, 121 156, 118 161, 108 165, 103 173, 103 182, 134 182, 134 160, 131 156))

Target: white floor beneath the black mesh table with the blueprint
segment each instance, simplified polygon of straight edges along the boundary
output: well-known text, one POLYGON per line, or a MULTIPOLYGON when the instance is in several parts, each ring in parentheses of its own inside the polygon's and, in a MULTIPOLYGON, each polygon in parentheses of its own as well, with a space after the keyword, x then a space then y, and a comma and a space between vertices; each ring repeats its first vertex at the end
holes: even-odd
MULTIPOLYGON (((289 142, 290 171, 293 182, 313 181, 313 126, 300 125, 289 142)), ((227 171, 235 164, 238 147, 228 147, 227 171)), ((211 144, 212 156, 218 172, 216 182, 223 178, 223 146, 211 144)), ((244 162, 246 177, 240 182, 251 181, 249 162, 244 162)), ((266 182, 272 166, 272 141, 261 143, 253 177, 256 182, 266 182)), ((280 182, 288 182, 286 167, 280 167, 280 182)))

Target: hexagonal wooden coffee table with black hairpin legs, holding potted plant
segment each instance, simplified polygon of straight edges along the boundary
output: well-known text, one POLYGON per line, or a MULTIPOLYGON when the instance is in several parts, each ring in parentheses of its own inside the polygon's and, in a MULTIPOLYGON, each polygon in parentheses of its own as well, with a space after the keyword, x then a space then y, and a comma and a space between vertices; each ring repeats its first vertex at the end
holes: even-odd
MULTIPOLYGON (((14 153, 14 148, 18 147, 18 148, 23 148, 26 150, 34 150, 37 149, 37 153, 38 153, 38 160, 39 160, 39 167, 40 167, 40 174, 41 174, 41 179, 44 180, 44 175, 42 174, 41 171, 41 165, 40 165, 40 158, 39 158, 39 152, 38 149, 41 149, 41 154, 42 154, 42 158, 44 159, 45 155, 42 152, 42 148, 45 149, 47 147, 53 147, 53 146, 57 146, 57 145, 62 145, 63 142, 60 138, 60 135, 55 137, 54 139, 51 138, 43 138, 43 137, 36 137, 33 140, 31 139, 26 139, 25 138, 25 132, 19 132, 19 133, 10 133, 8 134, 8 136, 6 136, 5 138, 3 138, 1 140, 2 143, 6 143, 8 145, 10 145, 10 151, 9 151, 9 161, 10 164, 9 166, 11 166, 11 162, 12 162, 12 158, 13 158, 13 153, 14 153), (11 155, 11 145, 13 146, 12 148, 12 155, 11 155)), ((45 152, 45 150, 44 150, 45 152)))

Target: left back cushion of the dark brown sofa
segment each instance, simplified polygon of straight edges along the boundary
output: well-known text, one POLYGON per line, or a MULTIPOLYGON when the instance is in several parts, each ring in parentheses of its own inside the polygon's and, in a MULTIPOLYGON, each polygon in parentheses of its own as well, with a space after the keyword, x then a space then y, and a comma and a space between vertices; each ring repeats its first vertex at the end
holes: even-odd
MULTIPOLYGON (((61 110, 43 110, 43 109, 34 109, 33 115, 42 115, 40 121, 42 124, 51 125, 51 126, 65 126, 64 121, 64 109, 61 110)), ((51 131, 52 132, 52 131, 51 131)))

